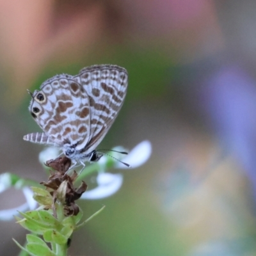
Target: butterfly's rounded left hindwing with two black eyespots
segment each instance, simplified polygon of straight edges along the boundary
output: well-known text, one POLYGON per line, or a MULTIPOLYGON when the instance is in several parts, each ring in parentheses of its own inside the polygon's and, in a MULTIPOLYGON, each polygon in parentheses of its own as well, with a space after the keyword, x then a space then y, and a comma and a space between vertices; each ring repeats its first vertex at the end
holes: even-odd
MULTIPOLYGON (((90 135, 90 104, 87 93, 72 76, 54 76, 35 91, 29 111, 49 140, 60 147, 77 145, 90 135)), ((36 142, 36 141, 35 141, 36 142)))

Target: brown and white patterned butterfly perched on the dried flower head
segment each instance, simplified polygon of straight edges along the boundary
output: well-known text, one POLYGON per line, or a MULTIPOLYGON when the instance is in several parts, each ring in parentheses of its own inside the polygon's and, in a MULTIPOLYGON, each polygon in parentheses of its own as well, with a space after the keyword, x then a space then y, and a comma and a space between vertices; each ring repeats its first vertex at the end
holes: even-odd
POLYGON ((84 166, 97 161, 95 148, 113 124, 127 92, 127 70, 116 65, 93 65, 77 76, 62 74, 30 93, 29 111, 44 132, 24 140, 60 147, 65 156, 84 166))

